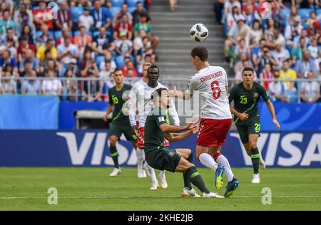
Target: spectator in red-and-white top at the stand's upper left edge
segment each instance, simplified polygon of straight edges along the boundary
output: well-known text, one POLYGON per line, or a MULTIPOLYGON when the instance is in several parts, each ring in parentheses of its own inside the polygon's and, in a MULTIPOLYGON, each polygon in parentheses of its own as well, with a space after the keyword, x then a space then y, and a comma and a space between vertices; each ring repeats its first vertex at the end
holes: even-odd
POLYGON ((46 1, 39 2, 39 9, 34 10, 34 24, 36 26, 36 30, 40 31, 41 25, 46 24, 50 30, 54 28, 52 23, 53 15, 51 9, 46 7, 46 1))

